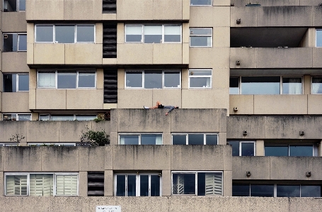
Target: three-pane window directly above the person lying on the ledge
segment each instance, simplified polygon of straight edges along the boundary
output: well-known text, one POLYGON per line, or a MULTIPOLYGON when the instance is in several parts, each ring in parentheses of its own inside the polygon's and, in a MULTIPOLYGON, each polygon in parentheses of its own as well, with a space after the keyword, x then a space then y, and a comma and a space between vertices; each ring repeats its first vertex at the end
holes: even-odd
POLYGON ((125 88, 168 89, 181 87, 180 71, 126 71, 125 88))

